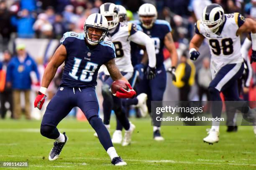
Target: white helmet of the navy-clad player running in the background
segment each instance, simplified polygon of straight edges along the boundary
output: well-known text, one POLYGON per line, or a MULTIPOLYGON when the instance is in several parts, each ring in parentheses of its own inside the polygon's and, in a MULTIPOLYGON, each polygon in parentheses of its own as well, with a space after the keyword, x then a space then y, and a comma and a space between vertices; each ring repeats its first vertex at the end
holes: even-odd
POLYGON ((156 11, 156 7, 152 4, 146 3, 140 6, 139 10, 138 10, 138 16, 140 18, 140 21, 142 23, 142 26, 144 28, 151 28, 154 24, 154 22, 156 21, 157 18, 157 11, 156 11), (145 25, 143 23, 142 17, 143 16, 153 16, 153 20, 151 21, 151 23, 149 25, 145 25))

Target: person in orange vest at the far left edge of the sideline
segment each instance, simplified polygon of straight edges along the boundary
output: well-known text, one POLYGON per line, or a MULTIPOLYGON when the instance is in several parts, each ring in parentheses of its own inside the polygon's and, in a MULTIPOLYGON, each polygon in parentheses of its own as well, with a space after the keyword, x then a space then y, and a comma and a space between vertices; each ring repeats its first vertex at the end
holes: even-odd
POLYGON ((3 62, 0 62, 0 115, 3 119, 5 118, 7 110, 11 111, 11 117, 13 118, 13 92, 10 87, 6 86, 6 70, 10 59, 11 54, 6 50, 3 53, 3 62))

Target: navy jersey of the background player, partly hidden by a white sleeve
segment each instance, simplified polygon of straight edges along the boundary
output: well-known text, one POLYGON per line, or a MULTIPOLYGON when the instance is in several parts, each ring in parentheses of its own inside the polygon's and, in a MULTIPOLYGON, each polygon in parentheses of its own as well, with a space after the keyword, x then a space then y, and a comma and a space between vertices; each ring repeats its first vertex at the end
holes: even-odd
POLYGON ((146 29, 139 20, 131 22, 136 25, 140 25, 143 32, 154 40, 156 50, 156 67, 160 67, 164 62, 164 37, 168 32, 172 31, 170 24, 165 20, 156 20, 152 28, 146 29))

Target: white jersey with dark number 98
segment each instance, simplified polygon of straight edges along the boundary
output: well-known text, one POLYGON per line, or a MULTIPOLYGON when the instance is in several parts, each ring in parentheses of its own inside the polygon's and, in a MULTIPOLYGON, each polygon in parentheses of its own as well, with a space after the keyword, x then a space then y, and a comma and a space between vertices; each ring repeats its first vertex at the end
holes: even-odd
POLYGON ((218 35, 206 30, 200 20, 195 23, 195 32, 208 40, 213 74, 226 64, 243 62, 240 36, 237 36, 236 32, 244 21, 244 17, 239 13, 225 14, 225 21, 220 26, 218 35))

